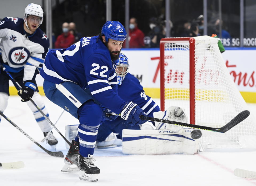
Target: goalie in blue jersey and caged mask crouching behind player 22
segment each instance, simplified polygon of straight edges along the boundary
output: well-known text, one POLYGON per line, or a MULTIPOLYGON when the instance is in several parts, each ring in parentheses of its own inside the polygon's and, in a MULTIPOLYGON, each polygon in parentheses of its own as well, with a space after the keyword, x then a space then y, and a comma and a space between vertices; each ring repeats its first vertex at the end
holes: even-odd
MULTIPOLYGON (((128 73, 129 63, 128 58, 120 53, 119 59, 116 61, 116 75, 118 82, 118 95, 125 101, 134 100, 141 109, 149 117, 163 118, 172 121, 187 122, 183 110, 179 107, 170 107, 167 111, 162 112, 159 106, 152 100, 151 97, 147 96, 140 85, 139 80, 132 74, 128 73), (129 92, 127 92, 129 90, 129 92), (176 109, 176 112, 174 112, 176 109)), ((182 128, 180 126, 168 125, 164 123, 152 122, 157 129, 168 129, 177 130, 174 128, 182 128)), ((97 147, 105 147, 109 145, 118 145, 120 140, 116 140, 116 136, 113 133, 118 133, 118 138, 122 138, 123 129, 139 130, 140 125, 129 125, 121 117, 116 118, 114 121, 106 120, 100 127, 97 136, 97 147), (106 140, 107 139, 107 140, 106 140), (116 141, 114 141, 116 140, 116 141), (110 142, 111 141, 111 142, 110 142)), ((153 129, 148 126, 147 129, 153 129)))

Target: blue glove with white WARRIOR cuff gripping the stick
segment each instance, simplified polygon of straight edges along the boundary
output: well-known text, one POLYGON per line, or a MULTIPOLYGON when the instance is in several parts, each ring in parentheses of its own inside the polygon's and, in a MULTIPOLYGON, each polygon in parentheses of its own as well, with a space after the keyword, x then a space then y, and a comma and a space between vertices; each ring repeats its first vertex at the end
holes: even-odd
POLYGON ((127 101, 121 112, 121 117, 126 120, 129 125, 145 123, 146 120, 141 120, 140 115, 147 116, 147 114, 145 114, 145 112, 143 112, 143 110, 132 101, 127 101))

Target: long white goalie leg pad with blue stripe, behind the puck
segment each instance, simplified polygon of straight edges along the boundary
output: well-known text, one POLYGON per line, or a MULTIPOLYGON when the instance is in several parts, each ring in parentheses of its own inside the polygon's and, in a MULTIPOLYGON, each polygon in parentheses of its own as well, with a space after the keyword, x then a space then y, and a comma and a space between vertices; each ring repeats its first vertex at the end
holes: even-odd
POLYGON ((190 137, 192 129, 179 130, 123 130, 124 154, 195 154, 199 140, 190 137))

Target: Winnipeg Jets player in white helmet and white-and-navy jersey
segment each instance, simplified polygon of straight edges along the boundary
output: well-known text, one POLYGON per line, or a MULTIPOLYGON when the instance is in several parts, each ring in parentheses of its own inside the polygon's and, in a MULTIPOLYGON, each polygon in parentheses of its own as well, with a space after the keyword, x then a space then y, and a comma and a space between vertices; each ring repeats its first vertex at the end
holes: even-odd
MULTIPOLYGON (((14 17, 2 19, 0 22, 0 63, 23 87, 18 93, 22 101, 27 101, 27 105, 33 112, 44 136, 46 136, 52 127, 28 98, 28 96, 33 97, 33 101, 49 116, 45 104, 38 93, 35 81, 36 74, 42 68, 49 48, 48 37, 38 28, 42 24, 43 14, 44 12, 40 5, 30 3, 25 8, 23 19, 14 17)), ((0 112, 3 112, 7 107, 7 100, 10 95, 9 79, 8 74, 1 69, 0 112)), ((58 143, 52 132, 48 136, 46 141, 49 145, 58 143)))

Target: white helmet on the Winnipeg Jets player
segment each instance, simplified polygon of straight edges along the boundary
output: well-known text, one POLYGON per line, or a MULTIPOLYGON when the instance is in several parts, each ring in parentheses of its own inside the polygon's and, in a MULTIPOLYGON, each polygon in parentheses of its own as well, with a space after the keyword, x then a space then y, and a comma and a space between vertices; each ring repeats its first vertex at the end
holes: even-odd
MULTIPOLYGON (((23 18, 26 26, 27 26, 27 17, 29 15, 36 15, 38 17, 41 17, 42 19, 41 19, 41 22, 39 23, 38 27, 42 24, 43 19, 44 19, 44 11, 40 5, 37 5, 34 3, 30 3, 29 5, 27 5, 27 7, 25 8, 25 13, 24 13, 24 18, 23 18)), ((27 28, 29 29, 28 26, 27 26, 27 28)))

